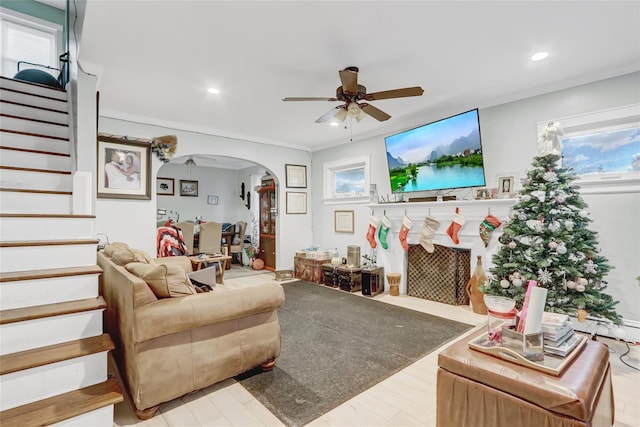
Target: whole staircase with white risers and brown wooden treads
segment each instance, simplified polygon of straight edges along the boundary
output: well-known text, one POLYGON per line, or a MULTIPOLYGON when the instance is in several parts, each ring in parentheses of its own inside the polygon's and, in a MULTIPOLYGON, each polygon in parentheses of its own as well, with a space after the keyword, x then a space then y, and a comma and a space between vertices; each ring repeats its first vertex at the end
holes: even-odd
MULTIPOLYGON (((0 425, 112 426, 95 216, 74 214, 67 93, 0 77, 0 425)), ((77 202, 77 200, 76 200, 77 202)))

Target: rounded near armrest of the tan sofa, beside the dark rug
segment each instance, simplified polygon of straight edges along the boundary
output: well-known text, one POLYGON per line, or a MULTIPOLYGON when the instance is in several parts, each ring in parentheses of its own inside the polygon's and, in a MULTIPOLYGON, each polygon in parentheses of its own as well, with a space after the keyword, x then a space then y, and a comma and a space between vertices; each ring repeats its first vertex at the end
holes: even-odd
POLYGON ((284 289, 278 283, 165 298, 135 311, 134 340, 141 343, 164 335, 265 313, 283 303, 284 289))

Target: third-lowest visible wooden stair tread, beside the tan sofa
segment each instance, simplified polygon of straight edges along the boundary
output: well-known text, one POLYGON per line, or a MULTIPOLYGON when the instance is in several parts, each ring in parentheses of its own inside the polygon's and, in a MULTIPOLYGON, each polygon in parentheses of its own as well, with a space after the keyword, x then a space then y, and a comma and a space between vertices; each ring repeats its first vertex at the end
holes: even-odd
POLYGON ((45 317, 62 316, 65 314, 82 313, 85 311, 102 310, 107 307, 102 296, 78 301, 65 301, 55 304, 44 304, 33 307, 12 308, 0 311, 0 325, 42 319, 45 317))

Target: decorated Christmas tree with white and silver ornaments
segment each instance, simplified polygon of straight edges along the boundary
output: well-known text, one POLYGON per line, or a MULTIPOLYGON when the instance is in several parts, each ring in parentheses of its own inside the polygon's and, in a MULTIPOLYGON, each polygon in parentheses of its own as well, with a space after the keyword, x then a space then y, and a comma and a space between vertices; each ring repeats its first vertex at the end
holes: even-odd
POLYGON ((587 204, 572 184, 575 174, 559 167, 562 130, 550 124, 538 140, 538 153, 522 180, 518 202, 499 238, 494 267, 483 290, 516 300, 522 308, 527 283, 547 289, 545 311, 589 315, 619 325, 618 303, 604 293, 611 266, 588 228, 587 204))

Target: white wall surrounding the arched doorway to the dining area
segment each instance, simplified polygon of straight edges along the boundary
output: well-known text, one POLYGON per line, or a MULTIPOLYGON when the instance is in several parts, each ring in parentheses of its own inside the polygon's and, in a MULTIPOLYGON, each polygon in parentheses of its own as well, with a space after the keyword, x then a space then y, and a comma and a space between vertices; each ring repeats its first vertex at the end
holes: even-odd
MULTIPOLYGON (((79 100, 79 109, 86 107, 88 111, 95 112, 96 79, 93 77, 79 79, 79 84, 84 85, 79 89, 82 96, 82 99, 79 100)), ((95 123, 95 115, 85 117, 85 120, 91 127, 95 123)), ((312 241, 311 212, 309 211, 306 215, 286 215, 284 213, 286 191, 284 188, 284 165, 285 163, 300 164, 306 165, 307 169, 310 169, 310 153, 105 117, 100 117, 98 128, 99 132, 137 138, 150 139, 161 135, 176 135, 178 137, 176 157, 188 156, 189 154, 212 154, 240 158, 260 165, 262 170, 269 170, 278 183, 280 214, 277 220, 276 268, 293 268, 293 257, 296 250, 308 246, 312 241)), ((84 135, 79 138, 78 152, 78 169, 91 172, 95 176, 95 128, 93 131, 85 129, 84 135), (93 135, 90 135, 92 132, 93 135)), ((155 186, 158 170, 164 164, 154 155, 151 157, 151 200, 97 199, 95 214, 97 233, 106 233, 112 242, 126 242, 133 247, 155 254, 158 198, 155 194, 155 186)), ((209 194, 206 191, 206 189, 202 189, 199 194, 209 194)), ((234 204, 237 203, 235 199, 238 202, 241 201, 239 194, 239 186, 236 185, 229 195, 231 200, 234 200, 234 204), (235 195, 236 192, 238 195, 235 195)), ((252 201, 257 202, 257 198, 252 201)), ((204 199, 204 203, 206 204, 206 199, 204 199)))

